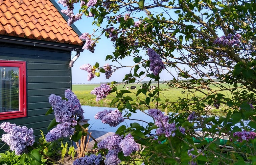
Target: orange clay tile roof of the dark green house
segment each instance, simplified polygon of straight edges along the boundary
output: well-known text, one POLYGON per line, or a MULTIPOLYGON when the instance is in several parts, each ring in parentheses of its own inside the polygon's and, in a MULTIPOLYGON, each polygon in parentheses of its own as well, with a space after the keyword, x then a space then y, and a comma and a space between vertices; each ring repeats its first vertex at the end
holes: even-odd
POLYGON ((83 45, 50 0, 0 0, 0 34, 83 45))

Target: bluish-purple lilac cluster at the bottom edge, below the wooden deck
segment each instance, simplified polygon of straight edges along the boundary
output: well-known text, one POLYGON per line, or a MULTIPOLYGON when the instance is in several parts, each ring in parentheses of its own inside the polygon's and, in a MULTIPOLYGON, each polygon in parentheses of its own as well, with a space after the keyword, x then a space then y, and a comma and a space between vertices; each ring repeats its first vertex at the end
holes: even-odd
POLYGON ((86 155, 85 157, 78 158, 73 162, 73 165, 100 165, 103 163, 103 157, 98 155, 86 155))

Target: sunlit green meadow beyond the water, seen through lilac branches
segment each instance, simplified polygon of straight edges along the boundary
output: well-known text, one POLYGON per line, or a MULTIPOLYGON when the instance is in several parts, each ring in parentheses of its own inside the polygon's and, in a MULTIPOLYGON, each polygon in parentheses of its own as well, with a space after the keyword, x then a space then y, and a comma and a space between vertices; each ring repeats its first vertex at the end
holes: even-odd
MULTIPOLYGON (((119 84, 117 85, 117 89, 119 90, 126 90, 126 87, 129 87, 129 91, 131 91, 131 93, 125 93, 124 96, 129 95, 133 101, 136 100, 145 100, 146 96, 143 93, 140 93, 138 95, 138 98, 136 97, 136 93, 138 91, 138 89, 140 89, 140 85, 142 84, 128 84, 128 85, 123 85, 123 84, 119 84), (137 89, 131 89, 131 86, 136 86, 137 89)), ((152 85, 157 85, 157 84, 152 84, 152 85)), ((82 105, 89 105, 89 106, 98 106, 98 107, 110 107, 110 103, 111 101, 115 98, 113 97, 113 95, 109 94, 107 96, 106 99, 102 99, 98 102, 96 102, 96 96, 94 94, 91 94, 90 92, 95 88, 100 86, 100 84, 73 84, 72 85, 72 91, 77 95, 78 99, 80 100, 80 103, 82 105)), ((227 84, 223 84, 223 83, 216 83, 214 85, 210 85, 209 87, 213 90, 219 89, 219 86, 223 86, 226 88, 229 88, 229 86, 227 84)), ((159 104, 164 103, 166 99, 169 99, 168 102, 173 102, 173 105, 175 106, 175 102, 177 102, 179 100, 179 98, 181 99, 191 99, 191 98, 201 98, 204 96, 203 93, 201 93, 200 91, 193 91, 191 93, 187 93, 187 89, 170 89, 167 84, 159 84, 159 88, 162 89, 161 93, 159 94, 159 104), (165 95, 165 97, 164 97, 165 95)), ((205 93, 210 93, 209 90, 207 89, 200 89, 202 92, 205 93)), ((148 96, 149 92, 153 92, 153 90, 149 90, 146 94, 148 96)), ((225 96, 230 95, 230 92, 227 92, 226 90, 221 91, 220 93, 224 94, 225 96)), ((114 93, 113 93, 114 94, 114 93)), ((151 98, 153 99, 153 98, 151 98)), ((153 104, 149 104, 151 108, 155 108, 155 105, 153 104)), ((205 105, 208 105, 208 103, 205 103, 205 105)), ((222 104, 219 108, 219 110, 216 110, 214 107, 211 107, 211 112, 214 113, 221 113, 222 110, 222 104)), ((112 106, 113 108, 115 108, 114 106, 112 106)), ((139 107, 141 109, 148 109, 147 107, 139 107)), ((163 109, 161 106, 158 107, 161 110, 168 110, 171 111, 171 108, 167 108, 167 109, 163 109)))

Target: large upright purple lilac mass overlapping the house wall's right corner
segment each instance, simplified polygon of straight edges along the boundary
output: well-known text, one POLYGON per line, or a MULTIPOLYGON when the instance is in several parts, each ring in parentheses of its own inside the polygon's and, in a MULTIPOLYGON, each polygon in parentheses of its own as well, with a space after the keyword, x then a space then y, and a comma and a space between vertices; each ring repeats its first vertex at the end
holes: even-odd
POLYGON ((70 89, 65 90, 65 98, 68 101, 62 100, 60 96, 55 94, 51 94, 49 97, 56 122, 59 124, 46 135, 47 142, 73 135, 75 131, 73 127, 77 124, 77 119, 84 119, 84 110, 70 89))

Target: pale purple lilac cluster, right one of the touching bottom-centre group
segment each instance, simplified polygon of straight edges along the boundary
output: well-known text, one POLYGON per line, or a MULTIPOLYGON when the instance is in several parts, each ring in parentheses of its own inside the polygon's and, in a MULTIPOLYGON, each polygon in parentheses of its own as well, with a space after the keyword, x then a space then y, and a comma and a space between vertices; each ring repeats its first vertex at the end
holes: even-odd
POLYGON ((124 156, 129 156, 132 152, 139 150, 139 144, 134 141, 130 133, 121 140, 119 145, 122 148, 124 156))

